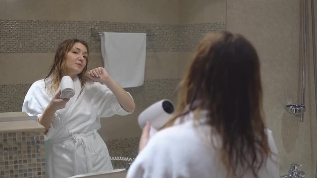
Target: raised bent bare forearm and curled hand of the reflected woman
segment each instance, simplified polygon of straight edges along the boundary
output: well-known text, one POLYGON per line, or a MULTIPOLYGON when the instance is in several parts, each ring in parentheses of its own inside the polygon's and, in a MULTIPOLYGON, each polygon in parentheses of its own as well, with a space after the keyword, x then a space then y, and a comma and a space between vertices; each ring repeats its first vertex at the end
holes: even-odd
POLYGON ((131 96, 111 78, 103 67, 88 71, 87 76, 94 81, 105 84, 124 110, 132 112, 135 109, 135 103, 131 96))

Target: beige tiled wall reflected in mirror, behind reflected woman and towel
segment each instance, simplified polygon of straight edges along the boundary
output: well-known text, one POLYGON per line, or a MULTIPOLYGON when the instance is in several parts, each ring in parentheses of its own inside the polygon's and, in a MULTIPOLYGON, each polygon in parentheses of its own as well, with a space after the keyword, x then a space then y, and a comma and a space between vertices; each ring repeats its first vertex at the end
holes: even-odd
MULTIPOLYGON (((127 88, 136 110, 101 119, 98 132, 110 156, 134 158, 137 116, 171 99, 192 51, 210 31, 226 29, 225 0, 0 0, 0 112, 21 111, 31 84, 43 79, 59 43, 78 38, 90 47, 88 69, 104 66, 98 32, 147 34, 144 85, 127 88)), ((125 162, 113 161, 114 169, 125 162)))

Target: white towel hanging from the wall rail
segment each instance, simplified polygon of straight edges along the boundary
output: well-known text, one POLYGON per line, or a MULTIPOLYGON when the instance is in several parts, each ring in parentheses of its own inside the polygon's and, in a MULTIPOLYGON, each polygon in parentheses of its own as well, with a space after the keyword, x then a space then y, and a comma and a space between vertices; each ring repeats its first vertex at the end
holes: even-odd
POLYGON ((122 88, 143 85, 145 33, 102 32, 101 51, 106 71, 122 88))

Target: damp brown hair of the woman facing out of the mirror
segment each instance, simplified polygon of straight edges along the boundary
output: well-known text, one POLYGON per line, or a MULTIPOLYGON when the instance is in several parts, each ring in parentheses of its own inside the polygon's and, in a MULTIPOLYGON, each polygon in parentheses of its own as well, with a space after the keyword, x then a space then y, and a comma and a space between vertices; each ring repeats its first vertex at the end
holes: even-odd
MULTIPOLYGON (((87 54, 89 56, 89 47, 85 41, 78 40, 78 39, 68 39, 63 41, 60 45, 58 45, 53 64, 51 65, 49 69, 50 72, 44 79, 45 89, 49 89, 49 92, 51 94, 53 94, 53 92, 56 91, 59 87, 61 78, 64 76, 66 71, 65 61, 66 61, 67 53, 72 49, 75 43, 83 44, 86 47, 87 54)), ((87 79, 85 77, 85 73, 87 71, 87 65, 88 65, 88 58, 86 59, 85 68, 80 74, 78 74, 78 78, 80 80, 80 85, 81 85, 80 93, 83 91, 86 84, 87 79)))

